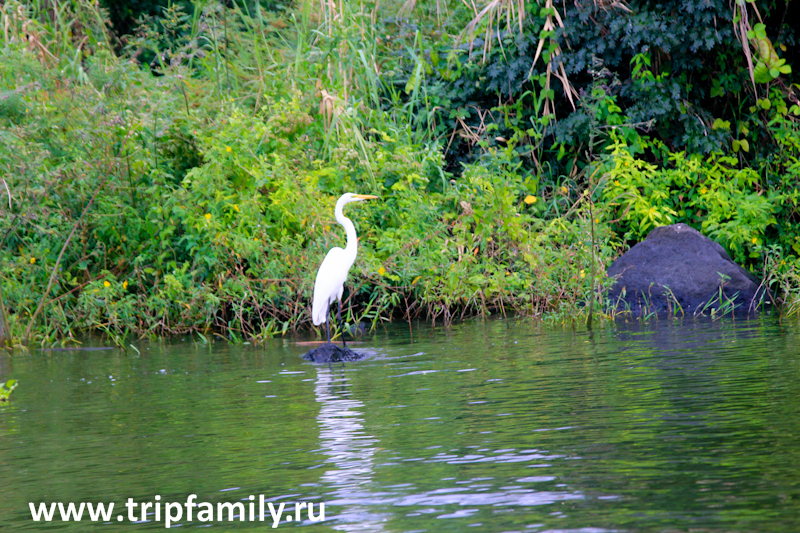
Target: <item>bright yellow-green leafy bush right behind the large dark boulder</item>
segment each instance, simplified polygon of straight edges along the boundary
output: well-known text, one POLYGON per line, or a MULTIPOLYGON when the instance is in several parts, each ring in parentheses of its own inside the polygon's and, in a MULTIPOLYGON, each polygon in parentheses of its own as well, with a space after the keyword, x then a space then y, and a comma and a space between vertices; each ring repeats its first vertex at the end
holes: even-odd
MULTIPOLYGON (((660 143, 652 149, 665 150, 660 143)), ((731 156, 668 152, 667 158, 660 168, 634 157, 619 139, 610 147, 601 164, 603 199, 624 238, 638 241, 656 226, 683 222, 722 244, 740 263, 760 257, 783 195, 764 193, 758 173, 737 168, 731 156)))

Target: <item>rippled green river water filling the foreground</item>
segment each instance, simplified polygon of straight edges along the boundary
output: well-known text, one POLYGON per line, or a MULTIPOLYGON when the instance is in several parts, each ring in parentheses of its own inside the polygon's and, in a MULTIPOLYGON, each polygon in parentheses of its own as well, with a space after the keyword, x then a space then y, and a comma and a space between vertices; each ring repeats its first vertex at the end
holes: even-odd
POLYGON ((406 325, 332 367, 283 339, 0 355, 20 382, 0 405, 0 530, 161 530, 116 509, 34 522, 28 503, 196 494, 326 503, 277 530, 800 531, 796 331, 406 325))

